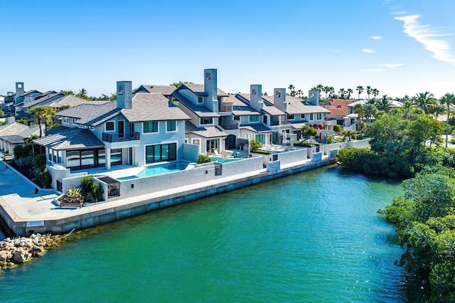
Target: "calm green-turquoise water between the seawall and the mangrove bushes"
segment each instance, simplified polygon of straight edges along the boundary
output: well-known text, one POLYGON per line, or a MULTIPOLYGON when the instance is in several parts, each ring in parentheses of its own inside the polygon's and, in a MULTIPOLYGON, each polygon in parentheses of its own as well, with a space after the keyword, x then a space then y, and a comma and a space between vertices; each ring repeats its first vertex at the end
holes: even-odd
POLYGON ((376 214, 398 182, 325 168, 87 230, 0 273, 2 302, 408 302, 376 214))

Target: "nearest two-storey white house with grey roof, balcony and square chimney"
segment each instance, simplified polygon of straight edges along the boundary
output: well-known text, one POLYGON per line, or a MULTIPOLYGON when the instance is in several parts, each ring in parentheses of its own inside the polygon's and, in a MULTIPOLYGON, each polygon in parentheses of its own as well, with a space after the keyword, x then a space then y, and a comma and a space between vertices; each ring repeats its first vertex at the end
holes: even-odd
POLYGON ((138 92, 117 83, 117 101, 82 104, 58 112, 61 127, 36 139, 50 163, 72 170, 117 164, 145 165, 181 159, 185 121, 164 95, 138 92))

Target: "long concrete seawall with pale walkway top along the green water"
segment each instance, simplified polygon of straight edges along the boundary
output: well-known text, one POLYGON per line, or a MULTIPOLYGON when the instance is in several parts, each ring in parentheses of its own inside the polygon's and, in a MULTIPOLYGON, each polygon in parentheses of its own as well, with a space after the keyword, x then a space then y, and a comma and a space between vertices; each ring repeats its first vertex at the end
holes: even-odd
POLYGON ((279 179, 284 176, 297 174, 302 171, 317 169, 336 162, 336 159, 323 159, 319 162, 306 162, 296 164, 291 167, 279 169, 277 171, 256 171, 250 176, 230 176, 223 179, 213 180, 192 184, 191 186, 181 186, 173 190, 159 191, 132 198, 119 199, 118 201, 95 203, 94 206, 85 206, 75 210, 75 215, 71 216, 71 211, 55 216, 54 218, 34 218, 31 220, 19 219, 13 209, 0 198, 0 215, 6 224, 16 235, 28 235, 31 233, 68 233, 73 228, 90 228, 95 225, 108 223, 114 220, 137 216, 141 213, 154 211, 159 208, 174 206, 181 203, 195 201, 200 198, 213 196, 218 193, 259 184, 265 181, 279 179), (84 213, 76 213, 83 211, 84 213))

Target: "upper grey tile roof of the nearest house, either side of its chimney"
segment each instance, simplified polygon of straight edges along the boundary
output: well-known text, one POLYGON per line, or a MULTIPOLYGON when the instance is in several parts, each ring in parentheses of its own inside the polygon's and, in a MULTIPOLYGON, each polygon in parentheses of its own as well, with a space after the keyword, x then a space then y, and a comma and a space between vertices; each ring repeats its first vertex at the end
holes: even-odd
POLYGON ((132 109, 117 108, 117 102, 85 103, 57 113, 60 117, 76 118, 77 124, 96 127, 112 117, 123 115, 129 122, 190 119, 164 95, 138 92, 132 99, 132 109))

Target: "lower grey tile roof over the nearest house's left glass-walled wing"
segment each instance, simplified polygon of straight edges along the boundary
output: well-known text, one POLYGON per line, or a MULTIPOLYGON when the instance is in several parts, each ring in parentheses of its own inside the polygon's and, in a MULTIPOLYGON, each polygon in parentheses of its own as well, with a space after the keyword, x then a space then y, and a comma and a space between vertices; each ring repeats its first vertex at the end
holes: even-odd
POLYGON ((65 132, 34 139, 35 144, 54 150, 93 149, 105 145, 89 129, 73 127, 65 132))

